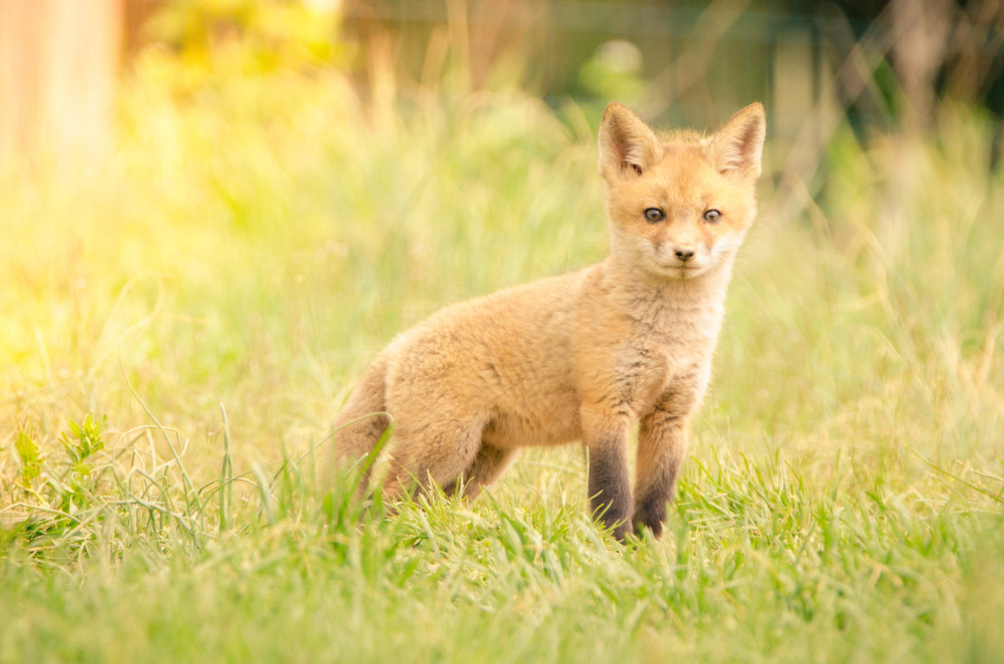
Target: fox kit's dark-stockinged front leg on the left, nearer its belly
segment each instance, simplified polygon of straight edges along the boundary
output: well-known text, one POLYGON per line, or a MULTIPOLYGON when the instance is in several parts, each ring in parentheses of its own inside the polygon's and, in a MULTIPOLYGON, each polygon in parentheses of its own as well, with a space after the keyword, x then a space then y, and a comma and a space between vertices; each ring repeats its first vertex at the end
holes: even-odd
POLYGON ((589 505, 592 515, 623 542, 631 529, 631 476, 628 473, 626 415, 582 409, 583 438, 589 453, 589 505))

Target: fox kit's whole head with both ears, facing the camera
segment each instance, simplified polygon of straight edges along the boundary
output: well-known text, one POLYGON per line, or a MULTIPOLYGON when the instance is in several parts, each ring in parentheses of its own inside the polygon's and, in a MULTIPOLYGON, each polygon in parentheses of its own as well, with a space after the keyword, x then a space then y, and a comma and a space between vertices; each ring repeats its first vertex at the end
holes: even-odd
POLYGON ((607 106, 599 172, 611 253, 666 279, 730 266, 756 214, 764 128, 758 103, 710 136, 663 137, 626 107, 607 106))

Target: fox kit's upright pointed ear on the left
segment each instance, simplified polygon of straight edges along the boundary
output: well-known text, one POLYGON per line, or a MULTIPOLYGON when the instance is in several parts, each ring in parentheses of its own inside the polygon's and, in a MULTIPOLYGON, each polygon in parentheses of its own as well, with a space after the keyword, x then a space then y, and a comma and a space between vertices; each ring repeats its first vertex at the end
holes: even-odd
POLYGON ((599 175, 623 171, 645 173, 662 157, 662 146, 652 129, 628 106, 611 103, 599 124, 599 175))

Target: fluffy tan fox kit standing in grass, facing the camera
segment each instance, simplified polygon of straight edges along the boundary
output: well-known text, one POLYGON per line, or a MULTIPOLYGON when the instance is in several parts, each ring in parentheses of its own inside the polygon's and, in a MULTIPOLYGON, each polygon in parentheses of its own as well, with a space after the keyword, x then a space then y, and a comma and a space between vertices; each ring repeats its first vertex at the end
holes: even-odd
POLYGON ((609 255, 454 304, 399 335, 338 417, 341 467, 373 450, 391 422, 383 413, 395 423, 390 500, 431 482, 475 496, 519 447, 580 440, 594 516, 619 540, 632 527, 658 537, 756 214, 764 133, 759 103, 708 136, 657 135, 628 107, 607 106, 609 255))

